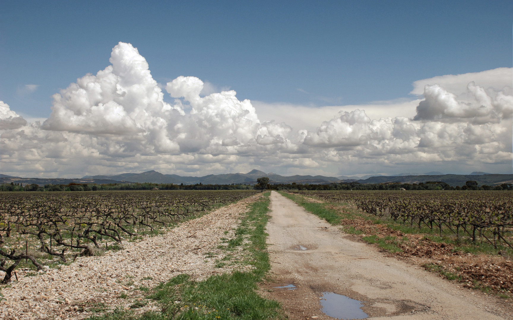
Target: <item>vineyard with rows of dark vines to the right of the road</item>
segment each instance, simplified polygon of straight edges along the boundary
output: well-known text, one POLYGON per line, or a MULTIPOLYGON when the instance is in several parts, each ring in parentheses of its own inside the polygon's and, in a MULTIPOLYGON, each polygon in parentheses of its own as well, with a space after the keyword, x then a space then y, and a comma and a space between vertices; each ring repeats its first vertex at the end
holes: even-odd
POLYGON ((297 191, 324 202, 354 203, 368 214, 410 227, 513 248, 508 191, 297 191))

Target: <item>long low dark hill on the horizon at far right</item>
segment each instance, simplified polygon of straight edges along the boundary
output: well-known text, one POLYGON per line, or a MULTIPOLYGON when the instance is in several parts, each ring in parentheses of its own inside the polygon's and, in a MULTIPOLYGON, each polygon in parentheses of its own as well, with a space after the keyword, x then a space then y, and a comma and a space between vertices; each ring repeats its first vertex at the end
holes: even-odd
POLYGON ((433 175, 433 176, 392 176, 371 177, 358 180, 358 183, 426 183, 441 181, 451 186, 462 186, 466 181, 476 181, 479 185, 513 183, 513 175, 433 175))

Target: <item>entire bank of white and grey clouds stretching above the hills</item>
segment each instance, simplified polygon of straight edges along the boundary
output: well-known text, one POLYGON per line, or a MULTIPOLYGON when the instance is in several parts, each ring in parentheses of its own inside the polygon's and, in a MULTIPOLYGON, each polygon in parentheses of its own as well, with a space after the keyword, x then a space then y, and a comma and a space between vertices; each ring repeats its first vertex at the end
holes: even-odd
MULTIPOLYGON (((257 167, 337 175, 435 166, 511 172, 510 68, 416 81, 412 93, 420 95, 423 86, 422 96, 404 104, 411 116, 377 118, 372 106, 331 107, 330 114, 340 112, 292 127, 263 121, 251 101, 240 101, 233 90, 212 92, 212 84, 191 76, 166 84, 173 101, 166 102, 163 86, 131 44, 116 45, 109 61, 54 94, 43 123, 28 123, 0 101, 3 173, 205 175, 257 167)), ((308 116, 314 109, 301 110, 303 119, 314 118, 308 116)))

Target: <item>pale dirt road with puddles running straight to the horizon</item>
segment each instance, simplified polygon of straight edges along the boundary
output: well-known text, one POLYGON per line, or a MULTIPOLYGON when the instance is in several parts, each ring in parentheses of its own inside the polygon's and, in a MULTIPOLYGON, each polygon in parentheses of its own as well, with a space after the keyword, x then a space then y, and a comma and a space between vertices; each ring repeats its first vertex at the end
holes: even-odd
POLYGON ((384 257, 275 191, 271 209, 267 232, 274 282, 265 289, 292 319, 331 319, 321 311, 323 292, 364 301, 369 318, 513 318, 494 297, 459 289, 420 267, 384 257), (296 289, 275 288, 289 284, 296 289))

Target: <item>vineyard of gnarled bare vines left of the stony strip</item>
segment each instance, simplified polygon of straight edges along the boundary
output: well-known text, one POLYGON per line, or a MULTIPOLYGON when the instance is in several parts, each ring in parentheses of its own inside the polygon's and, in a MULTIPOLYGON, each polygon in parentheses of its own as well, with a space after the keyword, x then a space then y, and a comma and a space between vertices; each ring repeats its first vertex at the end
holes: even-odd
MULTIPOLYGON (((256 191, 0 193, 0 270, 4 283, 20 263, 43 269, 79 255, 119 248, 256 191), (29 262, 30 261, 30 262, 29 262), (9 265, 10 264, 10 265, 9 265)), ((14 274, 16 275, 16 274, 14 274)))

